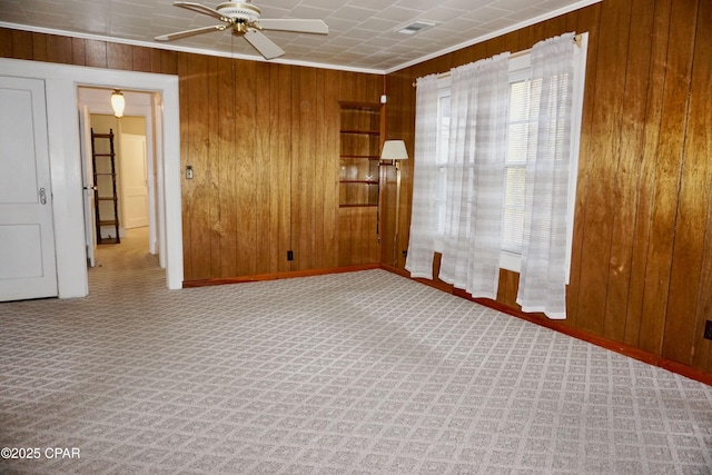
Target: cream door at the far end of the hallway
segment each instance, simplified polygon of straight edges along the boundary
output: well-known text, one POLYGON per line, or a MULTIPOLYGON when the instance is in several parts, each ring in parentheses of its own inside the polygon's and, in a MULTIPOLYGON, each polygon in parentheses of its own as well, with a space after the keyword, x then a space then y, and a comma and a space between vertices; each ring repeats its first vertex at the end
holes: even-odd
POLYGON ((146 181, 146 137, 121 133, 119 180, 126 229, 148 226, 148 182, 146 181))

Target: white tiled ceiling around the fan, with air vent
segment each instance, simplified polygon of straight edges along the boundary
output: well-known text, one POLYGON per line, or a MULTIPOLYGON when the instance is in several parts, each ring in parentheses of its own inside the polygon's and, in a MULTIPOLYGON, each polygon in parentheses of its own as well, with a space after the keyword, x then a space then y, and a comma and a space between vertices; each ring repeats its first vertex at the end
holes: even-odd
MULTIPOLYGON (((215 8, 222 0, 191 0, 215 8)), ((318 18, 329 34, 266 31, 286 55, 273 60, 390 72, 600 0, 255 0, 261 18, 318 18), (437 23, 416 34, 396 30, 437 23)), ((219 21, 172 0, 0 0, 0 26, 131 44, 263 60, 239 37, 215 31, 169 43, 154 38, 219 21)))

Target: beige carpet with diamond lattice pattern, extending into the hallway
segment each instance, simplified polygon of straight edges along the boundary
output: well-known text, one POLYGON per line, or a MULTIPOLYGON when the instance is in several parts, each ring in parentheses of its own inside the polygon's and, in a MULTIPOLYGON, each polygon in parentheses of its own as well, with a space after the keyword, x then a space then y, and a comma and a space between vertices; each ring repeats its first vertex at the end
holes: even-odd
POLYGON ((0 304, 1 473, 712 474, 710 386, 384 270, 167 290, 145 243, 0 304))

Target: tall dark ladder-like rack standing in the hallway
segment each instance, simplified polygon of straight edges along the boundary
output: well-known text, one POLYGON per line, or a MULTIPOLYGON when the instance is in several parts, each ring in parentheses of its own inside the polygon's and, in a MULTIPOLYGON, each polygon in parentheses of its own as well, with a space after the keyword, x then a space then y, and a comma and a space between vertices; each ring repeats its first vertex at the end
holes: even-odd
MULTIPOLYGON (((106 150, 107 147, 101 147, 106 150)), ((116 189, 116 154, 113 151, 113 130, 109 133, 96 133, 91 129, 91 164, 93 168, 93 200, 97 225, 97 244, 119 244, 119 196, 116 189), (108 140, 108 152, 97 152, 97 140, 108 140), (113 206, 106 206, 112 202, 113 206), (105 204, 105 206, 102 206, 105 204), (101 227, 112 226, 116 235, 101 237, 101 227)))

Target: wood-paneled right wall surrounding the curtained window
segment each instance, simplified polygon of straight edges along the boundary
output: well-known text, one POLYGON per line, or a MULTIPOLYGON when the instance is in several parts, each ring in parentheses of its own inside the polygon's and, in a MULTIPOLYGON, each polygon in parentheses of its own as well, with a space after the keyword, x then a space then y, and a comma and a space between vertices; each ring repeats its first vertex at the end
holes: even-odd
MULTIPOLYGON (((413 81, 566 31, 590 33, 568 318, 574 333, 617 342, 712 374, 712 2, 601 3, 387 77, 387 137, 413 150, 413 81)), ((413 162, 404 169, 398 244, 407 249, 413 162)), ((394 182, 384 243, 395 234, 394 182)), ((396 254, 396 255, 394 255, 396 254)), ((497 304, 515 304, 502 271, 497 304)), ((442 283, 441 283, 442 284, 442 283)), ((447 288, 447 286, 442 285, 447 288)))

